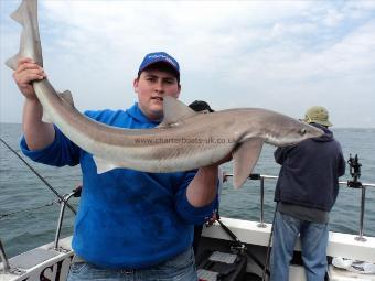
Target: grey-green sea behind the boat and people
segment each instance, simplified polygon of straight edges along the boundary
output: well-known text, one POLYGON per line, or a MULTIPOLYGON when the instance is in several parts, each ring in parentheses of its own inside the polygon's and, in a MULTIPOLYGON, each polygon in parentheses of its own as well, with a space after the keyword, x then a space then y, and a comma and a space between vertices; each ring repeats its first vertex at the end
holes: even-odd
MULTIPOLYGON (((333 128, 335 138, 341 142, 347 160, 350 154, 358 155, 362 183, 375 183, 375 128, 346 129, 333 128)), ((21 139, 21 125, 0 123, 0 137, 18 153, 21 139)), ((254 173, 278 175, 280 166, 274 161, 275 148, 265 145, 254 173)), ((23 156, 23 159, 25 159, 23 156)), ((43 176, 60 194, 69 193, 81 183, 79 166, 52 167, 26 162, 43 176)), ((232 173, 232 164, 223 165, 232 173)), ((350 169, 340 181, 351 180, 350 169)), ((265 181, 264 221, 271 223, 275 212, 275 180, 265 181)), ((375 236, 375 187, 365 190, 364 235, 375 236)), ((341 185, 336 204, 330 217, 330 230, 347 234, 360 233, 362 190, 341 185)), ((60 205, 57 197, 47 186, 0 142, 0 239, 8 257, 13 257, 38 246, 54 240, 60 205)), ((78 198, 71 203, 77 207, 78 198)), ((249 180, 238 190, 229 179, 221 194, 219 214, 223 217, 260 220, 260 183, 249 180)), ((74 215, 65 210, 62 237, 72 235, 74 215)))

